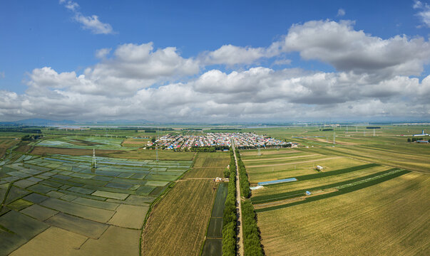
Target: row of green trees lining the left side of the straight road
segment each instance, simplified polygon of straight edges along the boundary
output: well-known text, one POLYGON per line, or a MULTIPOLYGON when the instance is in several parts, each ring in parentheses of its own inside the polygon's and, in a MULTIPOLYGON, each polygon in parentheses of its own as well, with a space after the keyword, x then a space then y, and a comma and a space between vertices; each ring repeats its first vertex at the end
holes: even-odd
POLYGON ((222 214, 222 255, 236 255, 236 164, 230 148, 230 181, 222 214))

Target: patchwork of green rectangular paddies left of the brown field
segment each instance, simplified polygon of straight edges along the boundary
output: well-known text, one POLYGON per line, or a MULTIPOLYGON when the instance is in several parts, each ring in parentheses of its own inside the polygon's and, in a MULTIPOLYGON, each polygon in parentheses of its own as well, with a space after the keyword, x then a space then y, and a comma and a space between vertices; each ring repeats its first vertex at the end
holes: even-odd
POLYGON ((0 255, 138 255, 150 203, 191 161, 97 163, 92 170, 90 156, 22 155, 4 164, 0 255))

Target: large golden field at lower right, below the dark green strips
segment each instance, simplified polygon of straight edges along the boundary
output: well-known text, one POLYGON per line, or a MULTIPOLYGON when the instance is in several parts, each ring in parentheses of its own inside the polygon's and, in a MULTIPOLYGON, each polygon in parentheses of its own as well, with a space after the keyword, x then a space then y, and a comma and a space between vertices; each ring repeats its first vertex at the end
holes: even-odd
POLYGON ((430 178, 409 173, 352 193, 258 213, 267 255, 429 255, 430 178))

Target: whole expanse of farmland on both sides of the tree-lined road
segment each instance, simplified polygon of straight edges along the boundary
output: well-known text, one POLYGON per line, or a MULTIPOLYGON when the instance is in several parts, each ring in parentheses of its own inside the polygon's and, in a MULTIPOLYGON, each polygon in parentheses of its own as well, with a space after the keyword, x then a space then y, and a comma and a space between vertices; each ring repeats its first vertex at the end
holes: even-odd
MULTIPOLYGON (((429 145, 399 136, 411 127, 355 129, 337 127, 336 144, 318 127, 242 129, 299 144, 240 150, 251 186, 297 180, 244 199, 266 255, 428 254, 429 145)), ((228 152, 143 149, 134 130, 48 132, 0 140, 16 145, 0 160, 0 255, 220 255, 227 186, 214 178, 228 152)))

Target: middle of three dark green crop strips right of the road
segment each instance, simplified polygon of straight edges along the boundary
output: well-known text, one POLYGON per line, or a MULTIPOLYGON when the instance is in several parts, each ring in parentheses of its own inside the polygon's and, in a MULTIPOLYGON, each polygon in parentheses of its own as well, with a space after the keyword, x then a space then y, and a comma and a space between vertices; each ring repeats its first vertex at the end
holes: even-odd
POLYGON ((304 193, 306 191, 316 191, 316 190, 322 190, 322 189, 327 189, 327 188, 334 188, 337 186, 343 186, 343 185, 347 185, 349 183, 354 183, 357 181, 363 181, 367 178, 373 178, 373 177, 377 177, 377 176, 381 176, 383 174, 388 174, 391 171, 396 170, 397 168, 393 168, 393 169, 389 169, 387 171, 379 171, 376 174, 370 174, 367 176, 363 176, 363 177, 359 177, 359 178, 353 178, 347 181, 342 181, 342 182, 337 182, 337 183, 332 183, 332 184, 327 184, 324 186, 317 186, 314 188, 305 188, 305 189, 300 189, 297 191, 290 191, 290 192, 284 192, 284 193, 277 193, 277 194, 272 194, 272 195, 267 195, 267 196, 255 196, 251 198, 252 203, 269 203, 269 202, 274 202, 274 201, 280 201, 280 200, 285 200, 288 198, 293 198, 295 196, 300 196, 300 195, 304 195, 304 193))

